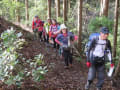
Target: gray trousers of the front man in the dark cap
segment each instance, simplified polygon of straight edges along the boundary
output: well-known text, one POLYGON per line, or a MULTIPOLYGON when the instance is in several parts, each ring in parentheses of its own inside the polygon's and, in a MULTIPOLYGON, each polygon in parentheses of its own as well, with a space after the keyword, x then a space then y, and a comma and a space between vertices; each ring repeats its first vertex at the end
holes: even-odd
POLYGON ((98 82, 96 84, 97 88, 102 88, 105 78, 105 65, 104 64, 93 64, 89 68, 88 72, 88 82, 92 82, 97 76, 98 82))

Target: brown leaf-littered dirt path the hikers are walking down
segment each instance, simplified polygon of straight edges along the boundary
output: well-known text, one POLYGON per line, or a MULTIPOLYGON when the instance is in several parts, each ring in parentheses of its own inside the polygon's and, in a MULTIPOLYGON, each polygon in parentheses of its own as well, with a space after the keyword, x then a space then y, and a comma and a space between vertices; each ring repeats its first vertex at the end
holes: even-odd
MULTIPOLYGON (((45 64, 49 67, 45 79, 38 84, 42 90, 84 90, 88 72, 84 60, 78 62, 74 59, 73 68, 64 69, 64 61, 60 59, 58 50, 47 47, 45 43, 31 41, 24 48, 26 58, 32 58, 39 53, 44 55, 45 64)), ((91 86, 91 90, 96 90, 95 83, 96 81, 91 86)), ((105 81, 103 90, 117 89, 112 87, 110 81, 105 81)))

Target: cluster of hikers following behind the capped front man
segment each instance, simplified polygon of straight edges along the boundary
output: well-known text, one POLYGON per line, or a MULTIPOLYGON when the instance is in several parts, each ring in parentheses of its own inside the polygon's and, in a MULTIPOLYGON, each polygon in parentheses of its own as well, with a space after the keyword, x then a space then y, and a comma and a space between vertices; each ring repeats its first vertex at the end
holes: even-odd
POLYGON ((72 48, 71 43, 77 40, 72 32, 68 30, 65 24, 58 24, 55 19, 47 19, 44 22, 35 16, 32 22, 34 39, 39 39, 47 44, 53 44, 53 48, 59 49, 59 55, 64 58, 65 68, 72 67, 72 48))

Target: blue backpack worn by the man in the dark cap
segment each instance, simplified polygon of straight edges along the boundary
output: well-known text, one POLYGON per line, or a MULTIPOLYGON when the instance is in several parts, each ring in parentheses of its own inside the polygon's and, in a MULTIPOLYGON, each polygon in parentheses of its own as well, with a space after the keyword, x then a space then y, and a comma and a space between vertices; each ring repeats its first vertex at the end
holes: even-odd
POLYGON ((88 39, 88 42, 86 43, 85 45, 85 53, 86 53, 86 56, 88 55, 88 48, 91 44, 91 41, 93 38, 96 38, 100 35, 100 33, 92 33, 90 36, 89 36, 89 39, 88 39))

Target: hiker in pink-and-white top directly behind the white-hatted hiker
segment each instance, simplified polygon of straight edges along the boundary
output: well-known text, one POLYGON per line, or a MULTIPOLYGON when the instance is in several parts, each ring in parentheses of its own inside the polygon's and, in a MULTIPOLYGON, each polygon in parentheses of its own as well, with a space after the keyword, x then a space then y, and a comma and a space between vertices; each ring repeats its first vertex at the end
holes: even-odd
POLYGON ((55 38, 57 37, 58 35, 58 24, 57 24, 57 21, 55 19, 52 20, 52 25, 50 25, 50 29, 49 29, 49 39, 52 39, 53 40, 53 47, 56 48, 59 48, 59 45, 55 42, 55 38))

